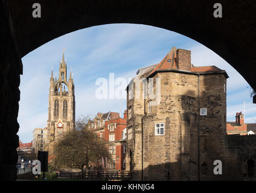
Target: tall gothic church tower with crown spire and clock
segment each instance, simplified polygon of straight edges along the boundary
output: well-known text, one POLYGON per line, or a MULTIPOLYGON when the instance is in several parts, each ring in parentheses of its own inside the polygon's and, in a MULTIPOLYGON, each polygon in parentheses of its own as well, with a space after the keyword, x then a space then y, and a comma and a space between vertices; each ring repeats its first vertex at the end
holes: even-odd
POLYGON ((64 52, 59 66, 59 78, 50 78, 50 93, 48 107, 48 142, 61 138, 67 131, 75 129, 75 94, 74 80, 67 80, 66 61, 64 52))

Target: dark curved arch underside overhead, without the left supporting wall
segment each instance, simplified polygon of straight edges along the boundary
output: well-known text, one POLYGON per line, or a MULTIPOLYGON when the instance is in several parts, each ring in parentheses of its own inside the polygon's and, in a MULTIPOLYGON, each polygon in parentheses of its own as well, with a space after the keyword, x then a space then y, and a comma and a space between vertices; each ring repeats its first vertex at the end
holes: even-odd
POLYGON ((188 36, 232 65, 256 89, 254 81, 255 2, 218 1, 223 17, 213 16, 216 1, 50 1, 39 0, 42 17, 32 17, 31 1, 4 1, 13 21, 21 57, 63 34, 95 25, 145 24, 188 36))

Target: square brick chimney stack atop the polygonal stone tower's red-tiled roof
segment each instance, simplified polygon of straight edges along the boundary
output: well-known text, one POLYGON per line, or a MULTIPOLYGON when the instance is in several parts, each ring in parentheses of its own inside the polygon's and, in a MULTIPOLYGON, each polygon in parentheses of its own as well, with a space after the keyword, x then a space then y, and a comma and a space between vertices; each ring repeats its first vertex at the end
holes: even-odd
POLYGON ((191 71, 191 51, 177 49, 177 64, 181 71, 191 71))

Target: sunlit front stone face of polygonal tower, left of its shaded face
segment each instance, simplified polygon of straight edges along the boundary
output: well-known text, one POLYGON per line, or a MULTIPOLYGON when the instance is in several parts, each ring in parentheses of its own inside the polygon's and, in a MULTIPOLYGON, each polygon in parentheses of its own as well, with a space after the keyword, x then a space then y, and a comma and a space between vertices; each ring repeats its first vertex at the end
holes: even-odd
POLYGON ((144 179, 196 180, 197 76, 165 72, 155 78, 161 78, 161 101, 143 119, 144 179), (165 124, 164 135, 155 135, 156 123, 165 124))

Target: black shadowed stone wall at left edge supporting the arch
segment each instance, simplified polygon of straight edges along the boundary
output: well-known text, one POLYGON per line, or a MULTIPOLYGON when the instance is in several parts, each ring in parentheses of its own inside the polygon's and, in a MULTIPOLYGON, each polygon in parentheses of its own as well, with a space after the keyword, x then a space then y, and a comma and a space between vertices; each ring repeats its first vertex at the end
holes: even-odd
POLYGON ((17 121, 22 62, 19 58, 10 14, 0 1, 0 180, 15 180, 19 147, 17 121))

